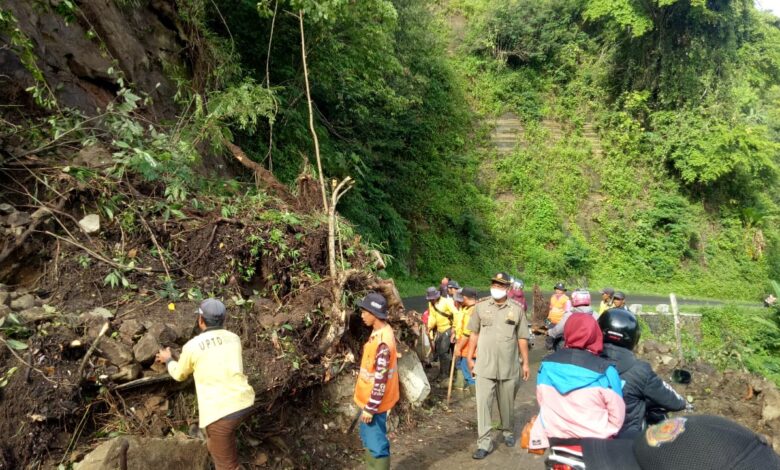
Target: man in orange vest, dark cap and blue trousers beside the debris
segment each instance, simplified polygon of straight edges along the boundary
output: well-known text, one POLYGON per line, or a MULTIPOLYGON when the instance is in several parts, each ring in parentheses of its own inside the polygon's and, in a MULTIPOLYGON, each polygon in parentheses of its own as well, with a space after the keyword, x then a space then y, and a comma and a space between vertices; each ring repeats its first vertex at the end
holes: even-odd
POLYGON ((395 335, 387 323, 387 300, 382 294, 371 292, 358 307, 363 323, 371 328, 355 384, 355 404, 362 410, 360 439, 367 468, 386 470, 390 468, 387 413, 400 396, 395 335))

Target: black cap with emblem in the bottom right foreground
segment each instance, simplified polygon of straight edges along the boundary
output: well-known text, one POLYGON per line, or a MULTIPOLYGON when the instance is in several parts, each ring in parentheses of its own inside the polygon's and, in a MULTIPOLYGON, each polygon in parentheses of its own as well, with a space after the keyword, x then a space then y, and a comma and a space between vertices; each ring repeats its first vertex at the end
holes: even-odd
POLYGON ((582 451, 587 468, 602 470, 780 468, 766 439, 713 415, 667 419, 633 440, 584 439, 582 451))

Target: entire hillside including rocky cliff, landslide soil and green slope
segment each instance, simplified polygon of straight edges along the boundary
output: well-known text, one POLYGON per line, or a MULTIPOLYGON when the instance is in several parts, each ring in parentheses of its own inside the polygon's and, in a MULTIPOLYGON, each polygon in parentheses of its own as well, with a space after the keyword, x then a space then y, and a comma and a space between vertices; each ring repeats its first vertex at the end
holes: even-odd
MULTIPOLYGON (((780 296, 780 20, 751 0, 9 0, 0 41, 0 469, 174 436, 202 466, 154 353, 210 296, 257 391, 242 458, 273 468, 353 464, 371 290, 404 349, 395 282, 445 274, 780 296)), ((780 429, 750 375, 780 384, 778 322, 702 309, 702 411, 747 383, 738 418, 780 429)), ((409 462, 445 396, 397 407, 409 462)))

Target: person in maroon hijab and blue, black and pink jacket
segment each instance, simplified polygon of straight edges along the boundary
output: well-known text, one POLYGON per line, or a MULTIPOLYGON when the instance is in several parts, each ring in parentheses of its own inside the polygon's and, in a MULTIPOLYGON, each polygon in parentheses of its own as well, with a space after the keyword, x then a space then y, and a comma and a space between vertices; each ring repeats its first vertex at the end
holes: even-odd
POLYGON ((539 415, 531 427, 529 449, 549 447, 553 438, 610 438, 625 419, 620 376, 599 356, 604 342, 593 315, 572 314, 563 337, 565 347, 539 367, 539 415))

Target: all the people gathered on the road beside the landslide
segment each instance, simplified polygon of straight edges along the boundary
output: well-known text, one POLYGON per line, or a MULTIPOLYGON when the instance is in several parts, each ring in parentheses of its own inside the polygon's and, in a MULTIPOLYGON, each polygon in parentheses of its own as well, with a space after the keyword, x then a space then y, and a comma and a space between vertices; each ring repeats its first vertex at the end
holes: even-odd
MULTIPOLYGON (((484 298, 448 278, 426 292, 428 331, 422 337, 433 344, 439 385, 451 385, 457 370, 458 387, 476 400, 474 459, 495 450, 494 430, 499 443, 513 447, 517 442, 515 396, 531 375, 523 287, 522 281, 497 273, 484 298), (498 424, 491 416, 493 403, 498 424)), ((766 440, 736 423, 714 416, 665 419, 668 411, 692 406, 634 355, 639 323, 624 304, 622 292, 604 288, 593 309, 587 290, 569 296, 563 284, 555 286, 543 328, 551 352, 539 366, 539 411, 525 428, 523 447, 544 453, 575 439, 582 443, 587 468, 594 469, 780 469, 780 457, 766 440)), ((357 307, 371 333, 355 385, 354 424, 360 423, 367 468, 389 469, 387 416, 400 398, 395 334, 384 296, 369 293, 357 307)), ((215 467, 235 470, 240 468, 236 429, 251 413, 255 394, 243 372, 241 340, 224 328, 224 304, 207 299, 196 313, 200 334, 184 345, 178 360, 165 348, 157 361, 176 380, 194 376, 200 427, 215 467)))

